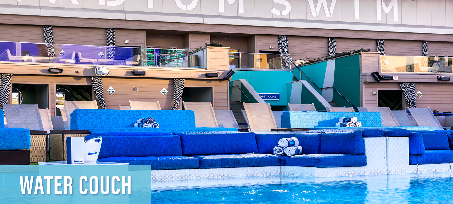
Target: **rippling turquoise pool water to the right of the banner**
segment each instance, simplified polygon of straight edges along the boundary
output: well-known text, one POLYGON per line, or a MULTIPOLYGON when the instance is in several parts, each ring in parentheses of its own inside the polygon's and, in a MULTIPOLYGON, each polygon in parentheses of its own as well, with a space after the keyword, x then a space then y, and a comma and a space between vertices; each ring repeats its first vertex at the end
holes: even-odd
POLYGON ((155 183, 153 204, 453 203, 451 174, 155 183))

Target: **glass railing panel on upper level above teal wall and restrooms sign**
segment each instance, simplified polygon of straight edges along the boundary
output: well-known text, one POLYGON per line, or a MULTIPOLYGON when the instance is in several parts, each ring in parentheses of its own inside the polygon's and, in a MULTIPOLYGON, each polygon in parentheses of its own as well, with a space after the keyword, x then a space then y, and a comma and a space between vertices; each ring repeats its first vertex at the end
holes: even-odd
POLYGON ((289 55, 230 52, 230 68, 249 68, 249 69, 283 69, 282 62, 289 55))

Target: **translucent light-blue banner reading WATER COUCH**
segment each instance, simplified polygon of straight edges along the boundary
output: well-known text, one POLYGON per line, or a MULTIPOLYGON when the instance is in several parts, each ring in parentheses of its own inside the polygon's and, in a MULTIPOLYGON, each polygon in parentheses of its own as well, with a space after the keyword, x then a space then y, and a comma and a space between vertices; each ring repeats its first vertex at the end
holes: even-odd
POLYGON ((150 165, 0 165, 0 203, 151 203, 150 165))

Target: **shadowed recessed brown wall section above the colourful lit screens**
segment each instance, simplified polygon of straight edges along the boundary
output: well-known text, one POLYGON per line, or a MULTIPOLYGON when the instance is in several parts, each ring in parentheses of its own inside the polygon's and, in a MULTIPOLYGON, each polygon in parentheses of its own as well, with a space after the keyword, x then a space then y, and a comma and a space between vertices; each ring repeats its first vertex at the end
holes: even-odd
POLYGON ((185 49, 183 35, 146 34, 146 46, 185 49))

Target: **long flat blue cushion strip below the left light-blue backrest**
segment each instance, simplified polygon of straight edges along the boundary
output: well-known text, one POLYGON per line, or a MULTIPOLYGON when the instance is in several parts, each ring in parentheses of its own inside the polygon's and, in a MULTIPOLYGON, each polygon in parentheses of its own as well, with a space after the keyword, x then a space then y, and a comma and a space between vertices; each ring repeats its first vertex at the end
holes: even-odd
POLYGON ((229 132, 238 132, 236 128, 211 128, 211 127, 192 127, 192 128, 135 128, 135 127, 126 127, 126 128, 90 128, 90 133, 103 133, 103 132, 169 132, 172 134, 183 134, 188 132, 219 132, 219 131, 229 131, 229 132))

